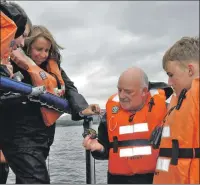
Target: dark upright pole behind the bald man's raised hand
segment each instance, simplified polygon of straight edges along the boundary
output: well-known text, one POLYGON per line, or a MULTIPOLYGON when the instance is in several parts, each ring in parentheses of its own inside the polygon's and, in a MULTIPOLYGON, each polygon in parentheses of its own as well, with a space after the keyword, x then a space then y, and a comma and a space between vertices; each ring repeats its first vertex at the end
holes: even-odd
MULTIPOLYGON (((84 119, 83 128, 89 129, 92 127, 93 117, 87 117, 84 119)), ((95 184, 95 159, 92 157, 90 150, 85 151, 86 157, 86 184, 95 184)))

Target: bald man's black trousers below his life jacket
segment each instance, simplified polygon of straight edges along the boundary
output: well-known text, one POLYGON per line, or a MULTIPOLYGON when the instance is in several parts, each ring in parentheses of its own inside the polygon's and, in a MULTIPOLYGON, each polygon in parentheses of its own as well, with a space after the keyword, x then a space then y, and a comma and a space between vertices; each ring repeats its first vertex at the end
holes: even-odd
POLYGON ((133 176, 112 175, 108 172, 108 184, 152 184, 153 173, 135 174, 133 176))

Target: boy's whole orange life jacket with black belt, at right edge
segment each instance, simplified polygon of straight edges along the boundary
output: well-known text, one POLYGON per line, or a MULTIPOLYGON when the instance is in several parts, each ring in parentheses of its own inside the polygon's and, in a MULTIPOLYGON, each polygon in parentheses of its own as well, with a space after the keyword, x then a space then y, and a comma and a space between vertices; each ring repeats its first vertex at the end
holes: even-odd
POLYGON ((180 109, 172 97, 166 116, 160 153, 154 175, 155 184, 200 183, 199 78, 193 80, 180 109))

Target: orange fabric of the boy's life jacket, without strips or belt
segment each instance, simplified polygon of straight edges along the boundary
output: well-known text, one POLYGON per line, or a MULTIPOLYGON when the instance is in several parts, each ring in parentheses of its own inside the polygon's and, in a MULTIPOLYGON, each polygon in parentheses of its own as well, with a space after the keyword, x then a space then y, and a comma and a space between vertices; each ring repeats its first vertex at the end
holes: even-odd
MULTIPOLYGON (((160 148, 172 148, 172 139, 177 139, 179 148, 199 148, 199 78, 192 83, 179 110, 174 109, 166 117, 164 126, 169 126, 169 137, 163 137, 160 148)), ((177 104, 173 97, 170 107, 177 104)), ((171 159, 159 157, 160 159, 171 159)), ((156 170, 154 184, 199 184, 199 158, 179 158, 178 165, 169 165, 168 171, 156 170)))

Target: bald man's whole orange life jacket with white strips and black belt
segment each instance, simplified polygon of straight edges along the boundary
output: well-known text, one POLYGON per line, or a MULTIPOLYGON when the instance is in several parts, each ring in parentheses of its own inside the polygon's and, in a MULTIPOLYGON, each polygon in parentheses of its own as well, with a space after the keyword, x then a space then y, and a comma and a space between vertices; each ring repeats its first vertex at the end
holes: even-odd
POLYGON ((111 174, 130 176, 155 171, 158 150, 151 147, 149 138, 167 111, 165 93, 159 92, 149 93, 145 105, 135 115, 120 107, 118 95, 109 98, 106 112, 111 174))

